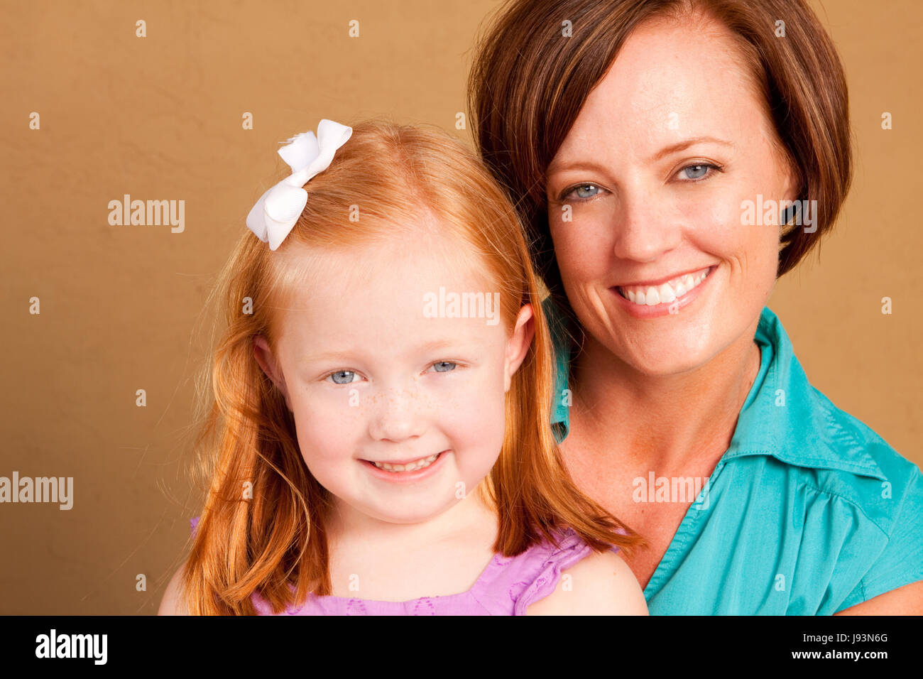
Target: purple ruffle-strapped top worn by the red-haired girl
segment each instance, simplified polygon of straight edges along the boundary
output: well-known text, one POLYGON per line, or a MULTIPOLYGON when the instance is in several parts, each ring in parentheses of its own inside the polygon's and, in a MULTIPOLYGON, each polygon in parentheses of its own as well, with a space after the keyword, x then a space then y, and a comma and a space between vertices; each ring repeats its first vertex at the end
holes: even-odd
MULTIPOLYGON (((191 519, 195 534, 198 516, 191 519)), ((378 601, 349 597, 318 597, 277 615, 523 615, 534 601, 557 587, 561 571, 581 561, 592 550, 571 528, 558 536, 558 546, 542 542, 516 556, 494 554, 472 587, 459 594, 422 597, 410 601, 378 601)), ((613 547, 613 552, 617 552, 613 547)), ((269 603, 252 596, 260 615, 272 615, 269 603)))

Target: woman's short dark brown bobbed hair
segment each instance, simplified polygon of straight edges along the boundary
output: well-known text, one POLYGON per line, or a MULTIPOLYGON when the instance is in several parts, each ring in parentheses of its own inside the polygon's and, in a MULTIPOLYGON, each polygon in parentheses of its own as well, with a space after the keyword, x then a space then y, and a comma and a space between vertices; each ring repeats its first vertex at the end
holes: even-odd
POLYGON ((782 234, 777 275, 833 227, 852 178, 846 83, 833 42, 803 0, 510 0, 479 40, 469 107, 481 157, 521 212, 561 309, 569 305, 548 232, 548 164, 632 30, 652 18, 701 16, 734 35, 796 173, 797 200, 817 200, 815 232, 782 234))

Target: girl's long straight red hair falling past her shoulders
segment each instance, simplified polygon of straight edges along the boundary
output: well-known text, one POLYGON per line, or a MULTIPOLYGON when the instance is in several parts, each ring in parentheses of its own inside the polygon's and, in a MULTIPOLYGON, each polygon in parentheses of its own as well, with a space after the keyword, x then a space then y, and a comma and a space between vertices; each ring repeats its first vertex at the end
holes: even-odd
POLYGON ((306 467, 292 413, 260 369, 253 340, 264 337, 275 353, 277 309, 305 273, 299 248, 386 239, 396 230, 428 228, 429 215, 483 263, 508 331, 522 305, 534 312, 532 345, 506 395, 504 442, 477 489, 497 511, 495 551, 521 553, 539 540, 555 541, 563 527, 597 552, 641 545, 577 490, 562 464, 550 426, 553 364, 538 279, 517 213, 476 155, 441 131, 366 121, 305 189, 306 207, 276 251, 241 228, 212 292, 223 327, 199 382, 205 421, 196 449, 208 490, 182 569, 183 608, 253 614, 251 596, 258 593, 281 612, 309 592, 331 593, 330 492, 306 467))

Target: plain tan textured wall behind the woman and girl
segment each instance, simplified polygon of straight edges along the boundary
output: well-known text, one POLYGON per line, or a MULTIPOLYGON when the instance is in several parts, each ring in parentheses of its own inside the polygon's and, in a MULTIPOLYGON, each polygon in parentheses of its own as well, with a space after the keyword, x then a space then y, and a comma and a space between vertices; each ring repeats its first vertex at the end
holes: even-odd
MULTIPOLYGON (((182 474, 205 292, 280 167, 277 142, 368 115, 470 141, 455 116, 497 4, 2 5, 0 476, 73 477, 74 506, 0 504, 0 613, 156 612, 197 511, 182 474), (110 225, 124 194, 185 200, 185 230, 110 225)), ((923 10, 836 0, 820 15, 849 79, 856 183, 820 260, 770 305, 812 382, 919 464, 923 10)))

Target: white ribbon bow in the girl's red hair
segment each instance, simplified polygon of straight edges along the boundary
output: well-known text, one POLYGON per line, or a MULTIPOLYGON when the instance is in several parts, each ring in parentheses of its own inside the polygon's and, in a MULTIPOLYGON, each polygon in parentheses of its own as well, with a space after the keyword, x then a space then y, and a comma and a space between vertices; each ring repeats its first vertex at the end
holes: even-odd
POLYGON ((247 228, 264 243, 269 242, 270 249, 282 244, 305 209, 307 191, 302 187, 330 167, 333 154, 352 134, 352 127, 324 118, 318 123, 317 137, 314 132, 302 132, 279 150, 292 174, 260 196, 246 215, 247 228))

